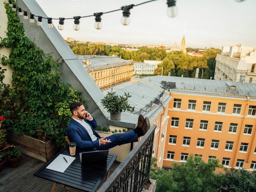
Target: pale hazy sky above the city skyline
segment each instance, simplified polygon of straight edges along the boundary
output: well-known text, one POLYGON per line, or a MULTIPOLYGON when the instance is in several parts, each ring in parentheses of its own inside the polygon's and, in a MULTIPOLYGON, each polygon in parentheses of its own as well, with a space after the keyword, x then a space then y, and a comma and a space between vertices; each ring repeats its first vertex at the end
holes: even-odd
MULTIPOLYGON (((185 34, 186 48, 221 49, 236 44, 256 47, 256 0, 176 0, 178 15, 175 18, 166 13, 167 0, 144 3, 147 1, 36 0, 51 18, 90 16, 135 5, 130 10, 127 26, 121 24, 122 10, 103 14, 100 30, 94 28, 94 16, 81 18, 78 31, 73 29, 73 19, 65 20, 64 30, 58 30, 64 39, 148 46, 174 46, 176 42, 179 47, 185 34)), ((43 24, 47 24, 46 20, 43 24)), ((53 20, 53 24, 58 28, 58 20, 53 20)))

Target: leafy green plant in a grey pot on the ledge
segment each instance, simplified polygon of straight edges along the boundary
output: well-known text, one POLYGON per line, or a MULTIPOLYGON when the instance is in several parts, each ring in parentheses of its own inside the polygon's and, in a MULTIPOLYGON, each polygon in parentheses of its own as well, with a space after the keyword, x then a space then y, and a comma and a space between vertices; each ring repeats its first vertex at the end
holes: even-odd
POLYGON ((132 107, 128 103, 128 98, 132 97, 129 93, 124 95, 117 95, 116 92, 108 92, 108 94, 101 99, 101 104, 104 109, 110 113, 110 119, 119 120, 121 119, 121 113, 124 111, 132 111, 132 107))

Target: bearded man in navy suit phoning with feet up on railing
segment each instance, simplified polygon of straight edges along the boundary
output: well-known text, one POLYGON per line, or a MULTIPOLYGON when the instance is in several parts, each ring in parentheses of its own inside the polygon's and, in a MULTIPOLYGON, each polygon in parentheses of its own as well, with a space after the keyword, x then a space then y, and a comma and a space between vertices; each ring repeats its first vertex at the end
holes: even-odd
POLYGON ((138 117, 138 125, 134 130, 117 133, 109 137, 100 137, 94 128, 97 127, 95 119, 85 111, 83 103, 74 102, 70 105, 72 118, 68 124, 67 134, 70 142, 75 142, 78 148, 108 150, 114 146, 137 142, 150 128, 148 117, 138 117))

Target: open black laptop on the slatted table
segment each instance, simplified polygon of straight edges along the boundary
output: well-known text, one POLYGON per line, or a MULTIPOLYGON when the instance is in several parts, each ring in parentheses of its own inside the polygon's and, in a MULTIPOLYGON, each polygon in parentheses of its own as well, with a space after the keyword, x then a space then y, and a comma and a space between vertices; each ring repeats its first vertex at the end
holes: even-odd
POLYGON ((108 159, 108 150, 80 152, 79 155, 82 164, 90 162, 104 162, 108 159))

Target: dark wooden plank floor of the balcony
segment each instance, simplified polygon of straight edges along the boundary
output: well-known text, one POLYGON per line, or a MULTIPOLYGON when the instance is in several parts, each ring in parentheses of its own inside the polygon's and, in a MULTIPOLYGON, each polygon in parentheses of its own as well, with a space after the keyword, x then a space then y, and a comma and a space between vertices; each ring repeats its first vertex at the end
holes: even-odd
MULTIPOLYGON (((118 166, 116 162, 110 169, 110 174, 118 166)), ((33 176, 44 162, 22 155, 20 166, 11 168, 5 162, 4 170, 0 172, 0 192, 51 192, 53 182, 33 176)), ((54 192, 74 192, 57 185, 54 192)))

